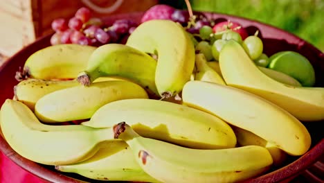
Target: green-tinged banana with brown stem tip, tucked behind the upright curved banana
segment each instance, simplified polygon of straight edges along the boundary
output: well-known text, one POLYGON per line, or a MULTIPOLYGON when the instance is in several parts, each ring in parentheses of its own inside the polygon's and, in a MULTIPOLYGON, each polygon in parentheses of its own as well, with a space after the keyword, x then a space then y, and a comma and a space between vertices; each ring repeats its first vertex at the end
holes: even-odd
POLYGON ((89 58, 87 69, 78 75, 78 81, 89 86, 102 76, 128 78, 159 96, 155 86, 156 60, 150 55, 123 44, 105 44, 89 58))

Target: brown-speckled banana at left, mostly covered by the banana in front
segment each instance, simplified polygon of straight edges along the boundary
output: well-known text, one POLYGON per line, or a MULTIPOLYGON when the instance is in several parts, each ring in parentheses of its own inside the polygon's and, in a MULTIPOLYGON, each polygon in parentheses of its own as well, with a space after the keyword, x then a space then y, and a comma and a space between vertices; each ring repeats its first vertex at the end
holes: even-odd
POLYGON ((79 83, 76 80, 40 80, 30 78, 22 80, 14 87, 15 99, 26 104, 31 110, 34 110, 35 103, 46 94, 78 85, 79 83))

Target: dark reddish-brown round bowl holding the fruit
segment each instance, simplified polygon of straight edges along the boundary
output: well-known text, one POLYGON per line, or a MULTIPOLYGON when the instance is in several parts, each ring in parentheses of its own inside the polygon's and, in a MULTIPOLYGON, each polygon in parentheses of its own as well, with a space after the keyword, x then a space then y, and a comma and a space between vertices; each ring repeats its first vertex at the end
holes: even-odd
MULTIPOLYGON (((295 35, 285 32, 284 30, 274 28, 267 24, 262 24, 258 21, 251 21, 249 19, 243 19, 240 17, 210 12, 205 12, 204 14, 210 19, 215 19, 216 22, 228 19, 231 21, 237 21, 246 28, 249 35, 254 34, 256 30, 259 30, 260 37, 262 37, 262 41, 264 42, 264 53, 267 55, 273 55, 273 53, 277 53, 278 51, 297 51, 298 53, 304 55, 312 63, 315 69, 315 86, 324 87, 324 54, 311 44, 296 37, 295 35)), ((143 12, 136 12, 105 17, 104 20, 107 21, 108 24, 112 23, 116 19, 124 18, 140 21, 142 15, 143 12)), ((50 38, 51 35, 47 35, 40 38, 33 44, 26 46, 26 48, 12 56, 12 58, 10 58, 6 64, 0 67, 0 79, 4 81, 3 86, 1 87, 0 105, 2 105, 6 98, 13 97, 13 87, 18 83, 18 81, 15 80, 16 71, 19 70, 19 67, 24 66, 24 62, 29 55, 39 49, 49 46, 50 38)), ((309 167, 311 167, 321 158, 323 159, 324 139, 323 131, 321 130, 321 123, 323 122, 324 121, 304 123, 312 137, 312 147, 305 155, 301 157, 291 157, 289 160, 287 160, 287 163, 280 168, 270 170, 267 174, 247 180, 246 182, 288 182, 300 174, 309 176, 312 175, 312 173, 309 171, 309 167)), ((48 180, 49 182, 94 182, 94 180, 89 180, 80 175, 73 173, 60 173, 55 171, 53 166, 44 166, 25 159, 10 148, 2 136, 0 137, 0 150, 18 166, 21 166, 21 168, 24 168, 30 173, 33 173, 44 180, 48 180)))

